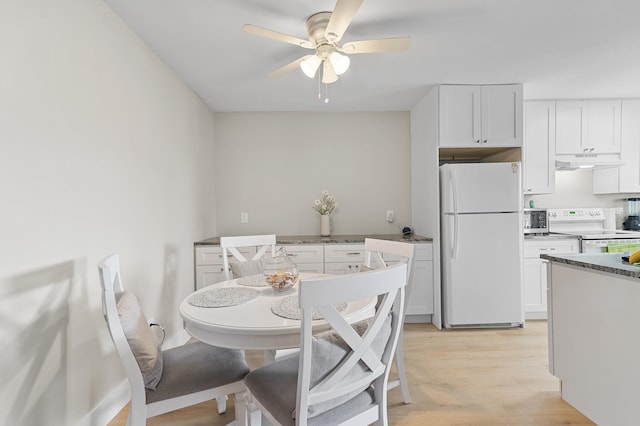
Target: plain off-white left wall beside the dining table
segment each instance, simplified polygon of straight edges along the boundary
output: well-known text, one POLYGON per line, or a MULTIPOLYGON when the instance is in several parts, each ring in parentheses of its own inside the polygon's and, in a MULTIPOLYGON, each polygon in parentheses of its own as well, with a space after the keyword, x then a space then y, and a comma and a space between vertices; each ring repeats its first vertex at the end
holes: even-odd
POLYGON ((124 374, 96 264, 119 252, 181 327, 216 231, 213 114, 98 0, 1 2, 0 62, 0 424, 105 424, 124 374))

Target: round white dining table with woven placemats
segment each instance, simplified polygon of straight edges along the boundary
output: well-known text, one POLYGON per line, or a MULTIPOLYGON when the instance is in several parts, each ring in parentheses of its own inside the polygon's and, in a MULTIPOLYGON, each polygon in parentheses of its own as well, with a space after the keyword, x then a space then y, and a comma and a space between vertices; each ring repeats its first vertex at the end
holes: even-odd
MULTIPOLYGON (((323 274, 301 273, 300 279, 321 278, 323 274)), ((297 286, 277 292, 267 287, 247 287, 238 284, 237 279, 222 281, 203 287, 190 294, 180 303, 180 315, 185 330, 196 339, 210 345, 230 349, 275 350, 300 347, 300 325, 297 319, 287 319, 274 314, 271 307, 279 299, 297 294, 297 286), (190 302, 192 298, 213 288, 243 287, 253 288, 259 295, 245 303, 229 307, 198 307, 190 302)), ((370 318, 375 313, 376 298, 349 302, 342 315, 349 323, 370 318)), ((328 328, 320 319, 315 321, 314 331, 328 328)))

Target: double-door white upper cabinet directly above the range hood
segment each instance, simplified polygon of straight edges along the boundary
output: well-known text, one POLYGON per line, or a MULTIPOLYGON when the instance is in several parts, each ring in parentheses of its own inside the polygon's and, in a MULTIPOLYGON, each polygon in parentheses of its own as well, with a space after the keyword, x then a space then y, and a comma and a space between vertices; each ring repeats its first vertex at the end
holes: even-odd
POLYGON ((620 153, 620 100, 556 102, 556 154, 620 153))

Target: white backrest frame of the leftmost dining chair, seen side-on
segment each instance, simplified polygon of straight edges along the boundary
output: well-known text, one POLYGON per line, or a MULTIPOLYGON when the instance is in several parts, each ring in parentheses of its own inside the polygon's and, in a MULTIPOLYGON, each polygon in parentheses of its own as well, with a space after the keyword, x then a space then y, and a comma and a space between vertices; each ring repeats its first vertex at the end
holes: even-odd
MULTIPOLYGON (((120 277, 120 258, 117 254, 108 256, 98 263, 98 274, 102 287, 102 314, 107 322, 109 334, 131 386, 132 411, 139 419, 146 418, 145 385, 138 362, 127 341, 122 323, 118 316, 118 300, 124 291, 120 277)), ((135 421, 133 424, 138 424, 135 421)))

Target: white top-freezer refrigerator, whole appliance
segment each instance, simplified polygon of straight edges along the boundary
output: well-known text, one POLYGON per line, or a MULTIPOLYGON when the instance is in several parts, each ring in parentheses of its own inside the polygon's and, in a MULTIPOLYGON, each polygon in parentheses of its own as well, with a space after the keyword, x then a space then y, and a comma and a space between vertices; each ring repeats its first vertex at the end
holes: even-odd
POLYGON ((521 164, 440 166, 445 328, 524 324, 521 164))

